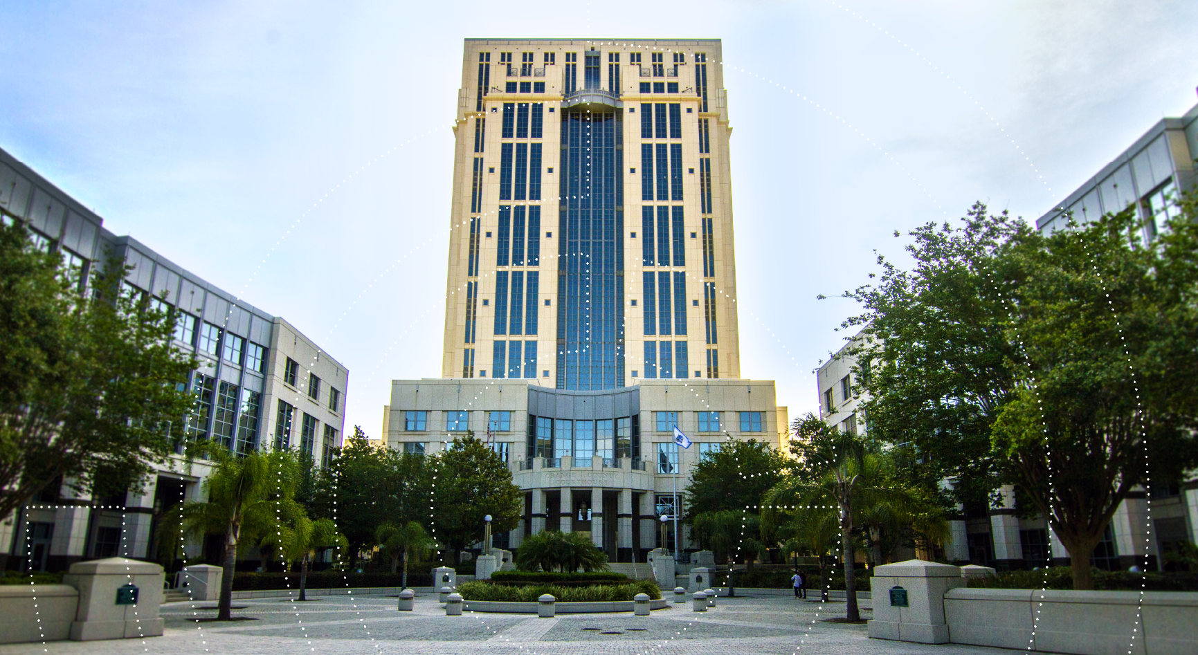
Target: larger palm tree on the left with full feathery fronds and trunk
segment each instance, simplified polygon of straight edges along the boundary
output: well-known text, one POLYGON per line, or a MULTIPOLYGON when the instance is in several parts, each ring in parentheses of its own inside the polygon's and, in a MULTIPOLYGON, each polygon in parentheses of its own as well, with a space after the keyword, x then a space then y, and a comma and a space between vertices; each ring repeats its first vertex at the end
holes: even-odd
POLYGON ((278 532, 279 518, 292 518, 303 511, 294 499, 298 467, 295 456, 286 451, 255 450, 238 457, 211 441, 194 444, 189 454, 207 455, 212 466, 204 480, 208 499, 171 508, 159 527, 158 542, 163 545, 163 554, 174 559, 184 536, 224 535, 217 620, 230 620, 238 548, 278 532))

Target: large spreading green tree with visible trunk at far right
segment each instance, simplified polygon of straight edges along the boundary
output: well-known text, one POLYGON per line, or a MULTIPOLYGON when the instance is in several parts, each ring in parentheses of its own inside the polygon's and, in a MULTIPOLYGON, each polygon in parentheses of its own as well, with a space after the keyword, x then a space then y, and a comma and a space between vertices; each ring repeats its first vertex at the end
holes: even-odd
POLYGON ((975 205, 912 232, 912 271, 879 257, 865 313, 871 435, 912 443, 957 498, 1015 484, 1090 558, 1133 489, 1198 463, 1198 212, 1154 243, 1130 208, 1043 236, 975 205))

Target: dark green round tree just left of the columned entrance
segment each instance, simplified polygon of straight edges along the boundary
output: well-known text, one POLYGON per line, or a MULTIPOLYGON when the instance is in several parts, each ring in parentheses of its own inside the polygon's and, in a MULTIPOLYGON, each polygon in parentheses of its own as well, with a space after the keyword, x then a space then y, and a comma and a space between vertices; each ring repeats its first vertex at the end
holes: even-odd
POLYGON ((519 524, 524 492, 512 484, 508 465, 473 432, 454 438, 447 450, 429 459, 428 466, 432 480, 429 504, 436 516, 434 536, 448 546, 447 560, 455 562, 458 551, 483 539, 488 514, 496 533, 519 524))

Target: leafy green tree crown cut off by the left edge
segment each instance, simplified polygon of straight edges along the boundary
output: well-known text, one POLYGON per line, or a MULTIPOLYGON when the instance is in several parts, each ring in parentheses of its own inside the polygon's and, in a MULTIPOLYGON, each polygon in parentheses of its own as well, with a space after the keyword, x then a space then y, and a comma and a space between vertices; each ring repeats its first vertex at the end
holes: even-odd
POLYGON ((109 261, 80 293, 59 254, 0 222, 0 517, 59 480, 138 490, 174 453, 196 363, 171 346, 165 296, 122 289, 125 272, 109 261))

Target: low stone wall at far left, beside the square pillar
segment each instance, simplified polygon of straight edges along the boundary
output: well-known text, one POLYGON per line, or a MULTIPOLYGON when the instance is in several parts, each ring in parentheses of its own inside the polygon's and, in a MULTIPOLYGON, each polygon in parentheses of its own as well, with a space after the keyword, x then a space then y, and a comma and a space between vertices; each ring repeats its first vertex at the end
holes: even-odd
POLYGON ((0 644, 66 639, 78 608, 69 584, 0 586, 0 644))

